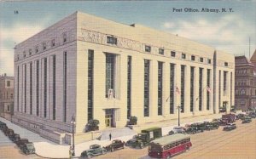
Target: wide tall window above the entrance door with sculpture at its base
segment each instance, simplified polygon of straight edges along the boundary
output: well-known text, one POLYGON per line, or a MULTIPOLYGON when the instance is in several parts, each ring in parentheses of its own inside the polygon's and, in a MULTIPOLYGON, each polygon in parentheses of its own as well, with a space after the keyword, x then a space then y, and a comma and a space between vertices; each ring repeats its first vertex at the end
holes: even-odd
POLYGON ((106 54, 106 98, 114 97, 115 55, 106 54))

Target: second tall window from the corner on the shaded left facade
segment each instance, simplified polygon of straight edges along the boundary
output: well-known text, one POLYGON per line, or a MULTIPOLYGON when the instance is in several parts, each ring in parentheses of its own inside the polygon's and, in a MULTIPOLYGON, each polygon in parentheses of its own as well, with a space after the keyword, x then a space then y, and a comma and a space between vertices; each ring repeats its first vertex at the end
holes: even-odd
POLYGON ((56 119, 56 55, 52 56, 52 119, 56 119))

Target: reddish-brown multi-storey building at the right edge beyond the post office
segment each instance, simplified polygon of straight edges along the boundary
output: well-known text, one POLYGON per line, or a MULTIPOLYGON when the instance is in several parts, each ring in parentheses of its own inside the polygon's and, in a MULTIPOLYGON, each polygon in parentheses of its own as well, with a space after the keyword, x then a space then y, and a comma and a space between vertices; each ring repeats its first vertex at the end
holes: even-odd
POLYGON ((247 111, 256 108, 256 51, 251 60, 244 55, 236 56, 236 109, 247 111))

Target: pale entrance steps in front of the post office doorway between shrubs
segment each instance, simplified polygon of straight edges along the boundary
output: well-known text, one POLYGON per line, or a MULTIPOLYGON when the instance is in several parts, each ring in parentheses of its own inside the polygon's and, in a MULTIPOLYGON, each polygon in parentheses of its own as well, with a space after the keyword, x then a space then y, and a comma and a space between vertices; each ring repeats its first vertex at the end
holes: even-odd
POLYGON ((111 133, 111 139, 128 136, 128 135, 135 135, 137 134, 136 131, 132 130, 131 128, 109 128, 102 130, 102 135, 100 140, 109 139, 109 134, 111 133))

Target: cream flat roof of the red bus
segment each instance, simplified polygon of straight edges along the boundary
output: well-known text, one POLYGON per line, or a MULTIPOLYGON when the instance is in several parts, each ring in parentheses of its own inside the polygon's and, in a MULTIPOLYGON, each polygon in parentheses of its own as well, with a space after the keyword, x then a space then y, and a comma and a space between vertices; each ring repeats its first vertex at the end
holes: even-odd
POLYGON ((159 145, 168 145, 170 143, 176 142, 176 141, 181 140, 181 139, 186 139, 186 138, 189 138, 189 137, 190 136, 188 134, 175 133, 175 134, 172 134, 172 135, 164 136, 164 137, 159 138, 159 139, 154 139, 153 141, 151 141, 151 143, 159 144, 159 145))

